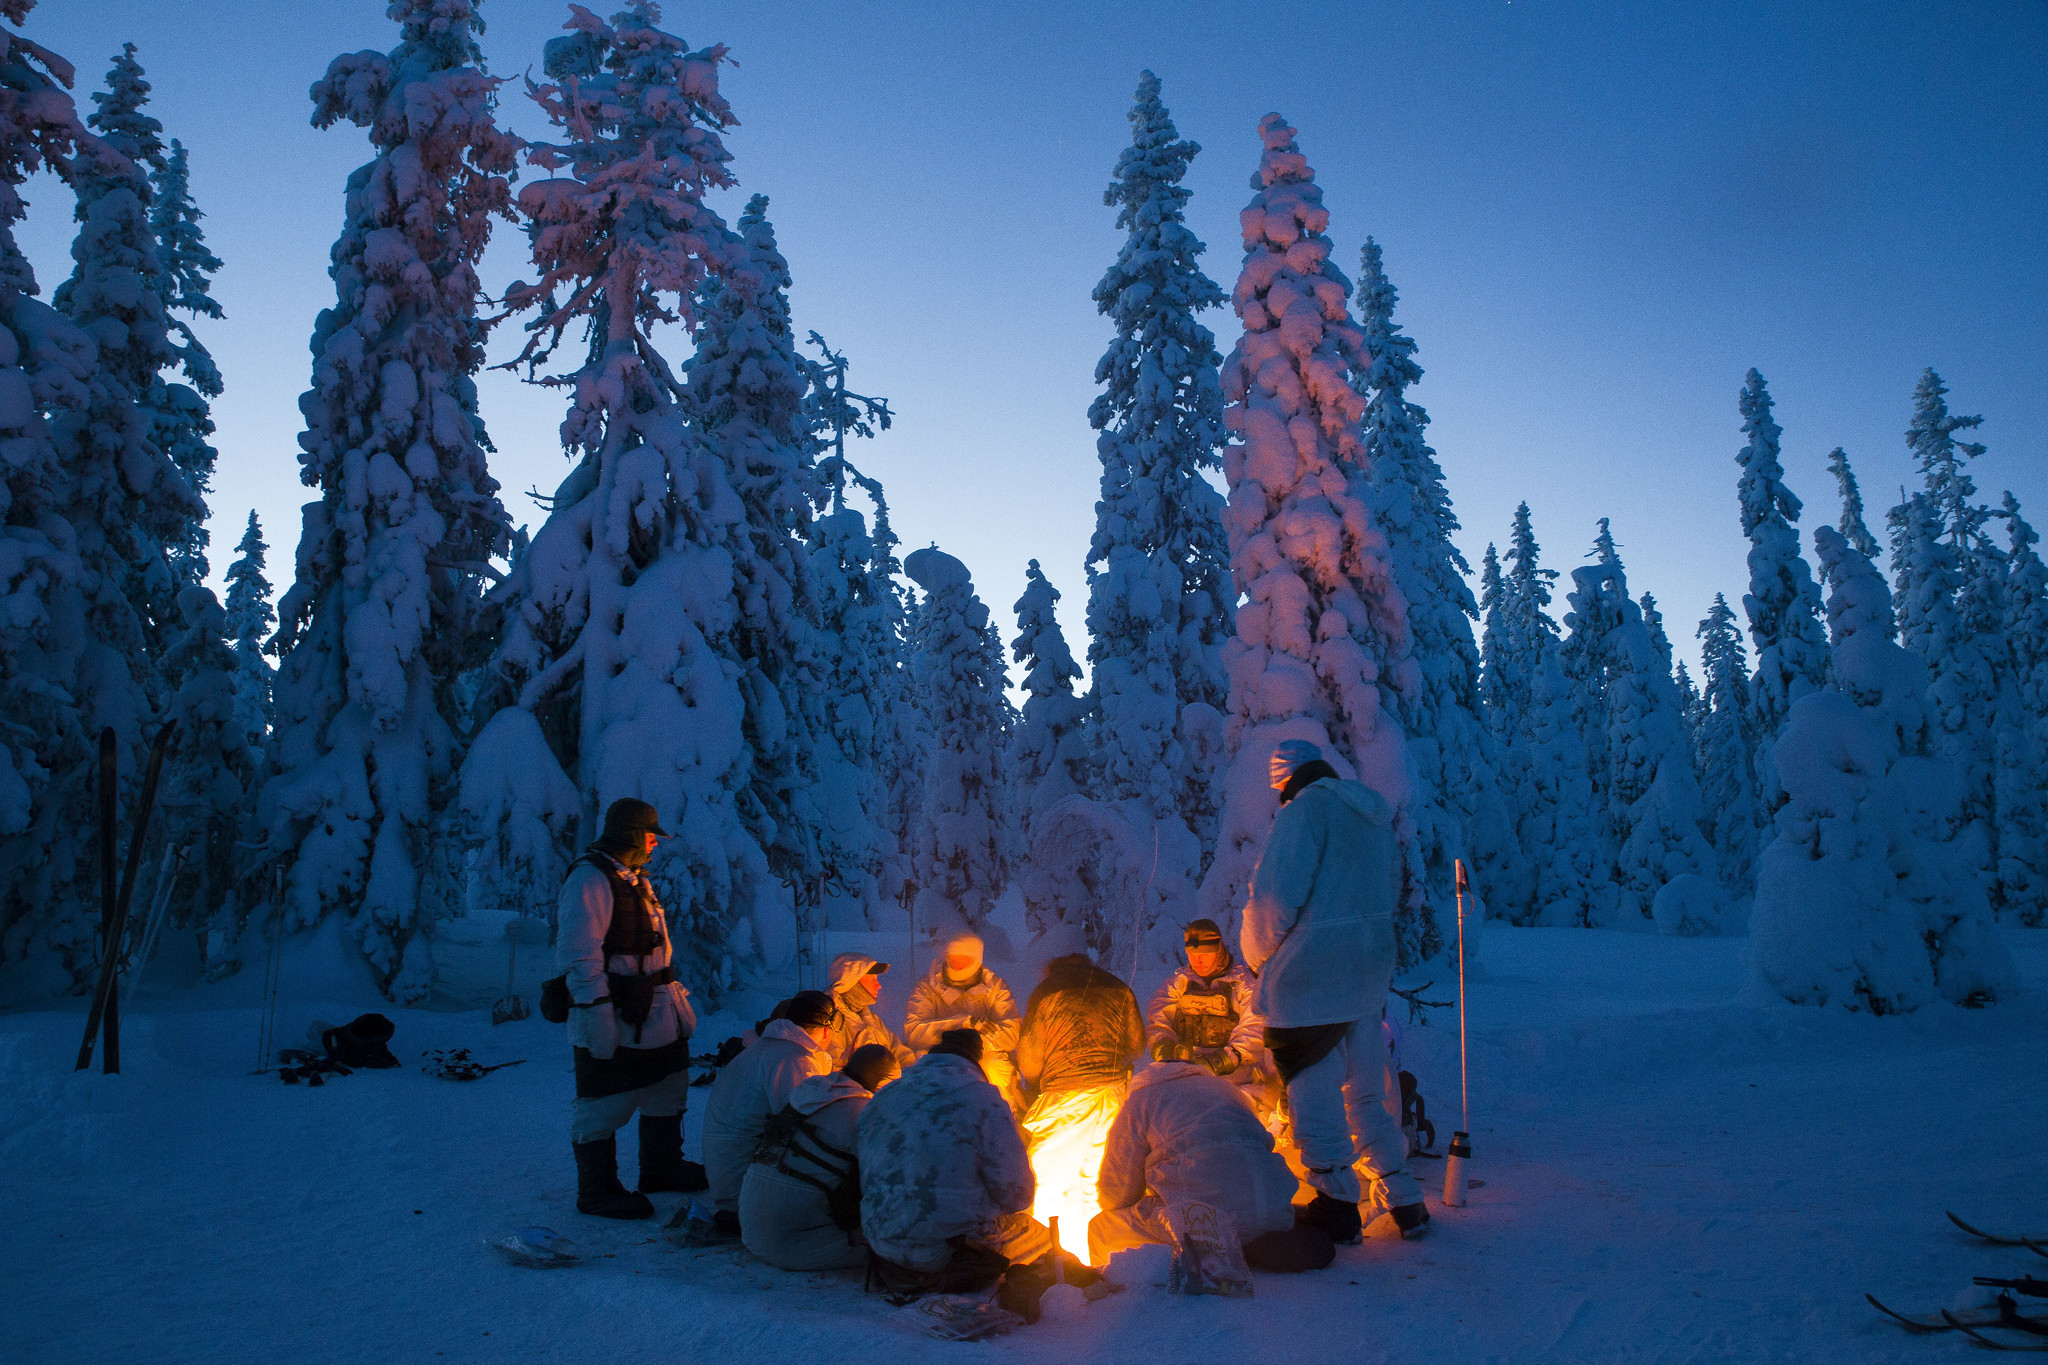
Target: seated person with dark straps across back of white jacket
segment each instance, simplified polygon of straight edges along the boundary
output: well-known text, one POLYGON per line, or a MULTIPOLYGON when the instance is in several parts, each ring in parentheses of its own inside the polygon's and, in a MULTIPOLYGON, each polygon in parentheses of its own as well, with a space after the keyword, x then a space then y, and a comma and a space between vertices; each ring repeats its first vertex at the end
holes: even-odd
POLYGON ((854 1134, 868 1099, 899 1074, 889 1048, 862 1044, 842 1070, 788 1093, 739 1183, 748 1250, 784 1271, 866 1265, 854 1134))

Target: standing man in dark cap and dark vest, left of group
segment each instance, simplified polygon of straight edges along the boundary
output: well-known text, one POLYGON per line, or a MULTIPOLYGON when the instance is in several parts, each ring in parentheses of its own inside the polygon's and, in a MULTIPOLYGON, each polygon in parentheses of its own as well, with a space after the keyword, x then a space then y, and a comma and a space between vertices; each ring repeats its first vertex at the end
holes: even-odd
POLYGON ((575 1207, 598 1218, 647 1218, 649 1193, 705 1187, 705 1169, 682 1158, 696 1011, 670 966, 668 917, 643 872, 666 837, 653 806, 614 800, 555 902, 555 962, 575 1050, 575 1207), (618 1128, 635 1109, 639 1193, 618 1183, 618 1128))

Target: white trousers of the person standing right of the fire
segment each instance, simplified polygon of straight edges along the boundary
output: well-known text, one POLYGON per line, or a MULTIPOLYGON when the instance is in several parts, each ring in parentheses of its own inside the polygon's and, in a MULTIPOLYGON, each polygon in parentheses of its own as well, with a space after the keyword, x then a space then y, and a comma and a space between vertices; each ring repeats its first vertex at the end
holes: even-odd
POLYGON ((1378 1019, 1358 1019, 1315 1066, 1286 1083, 1294 1142, 1309 1185, 1346 1203, 1364 1193, 1354 1164, 1386 1187, 1386 1207, 1421 1203, 1421 1185, 1407 1173, 1407 1138, 1386 1113, 1386 1046, 1378 1019))

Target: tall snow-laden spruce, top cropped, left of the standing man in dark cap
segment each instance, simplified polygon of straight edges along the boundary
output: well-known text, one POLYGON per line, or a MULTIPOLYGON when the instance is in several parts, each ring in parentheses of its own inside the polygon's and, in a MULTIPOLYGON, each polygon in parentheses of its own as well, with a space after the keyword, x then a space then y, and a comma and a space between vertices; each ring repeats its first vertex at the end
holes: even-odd
POLYGON ((348 915, 377 976, 414 1001, 432 982, 422 909, 457 902, 442 825, 459 684, 487 647, 479 579, 508 544, 477 415, 475 262, 508 213, 520 141, 496 125, 500 82, 481 70, 473 0, 389 12, 389 55, 336 57, 311 88, 313 127, 354 123, 377 156, 348 176, 336 301, 313 325, 313 387, 299 399, 299 479, 319 499, 270 647, 260 821, 264 855, 287 872, 289 923, 348 915))

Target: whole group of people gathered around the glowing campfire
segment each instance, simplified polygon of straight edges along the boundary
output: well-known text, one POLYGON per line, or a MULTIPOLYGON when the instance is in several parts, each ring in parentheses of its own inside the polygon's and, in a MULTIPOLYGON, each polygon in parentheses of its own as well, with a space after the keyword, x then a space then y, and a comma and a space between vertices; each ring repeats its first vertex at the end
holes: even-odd
POLYGON ((889 964, 842 954, 829 990, 797 993, 735 1054, 727 1044, 702 1162, 682 1154, 696 1015, 641 876, 666 831, 647 802, 612 802, 559 902, 578 1209, 647 1218, 649 1193, 702 1191, 713 1234, 770 1265, 866 1267, 870 1287, 899 1295, 999 1283, 1026 1320, 1057 1277, 1108 1291, 1100 1267, 1174 1244, 1192 1203, 1227 1214, 1264 1271, 1329 1265, 1360 1238, 1362 1203, 1421 1236, 1430 1214, 1382 1103, 1393 808, 1307 741, 1276 747, 1272 784, 1241 956, 1198 919, 1186 966, 1143 1013, 1083 954, 1053 958, 1020 1011, 981 939, 958 933, 911 988, 897 1038, 874 1011, 889 964), (635 1113, 629 1191, 616 1132, 635 1113), (1030 1152, 1071 1124, 1106 1126, 1085 1265, 1032 1218, 1030 1152))

